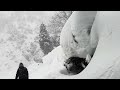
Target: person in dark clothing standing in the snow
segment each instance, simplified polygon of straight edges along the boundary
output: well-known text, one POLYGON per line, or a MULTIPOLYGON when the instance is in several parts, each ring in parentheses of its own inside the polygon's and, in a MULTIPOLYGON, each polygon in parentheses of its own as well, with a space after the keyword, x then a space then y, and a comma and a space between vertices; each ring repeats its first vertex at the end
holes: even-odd
POLYGON ((24 67, 23 63, 19 64, 15 79, 29 79, 28 70, 24 67))

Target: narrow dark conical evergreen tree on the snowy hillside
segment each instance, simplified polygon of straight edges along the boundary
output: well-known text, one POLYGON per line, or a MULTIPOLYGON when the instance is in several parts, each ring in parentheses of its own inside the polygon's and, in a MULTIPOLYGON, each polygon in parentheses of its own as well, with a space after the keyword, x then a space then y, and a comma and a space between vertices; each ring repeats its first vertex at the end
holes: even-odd
POLYGON ((46 55, 50 51, 53 50, 52 42, 50 41, 50 36, 46 30, 45 24, 40 25, 40 34, 39 34, 39 43, 40 48, 42 49, 43 53, 46 55))

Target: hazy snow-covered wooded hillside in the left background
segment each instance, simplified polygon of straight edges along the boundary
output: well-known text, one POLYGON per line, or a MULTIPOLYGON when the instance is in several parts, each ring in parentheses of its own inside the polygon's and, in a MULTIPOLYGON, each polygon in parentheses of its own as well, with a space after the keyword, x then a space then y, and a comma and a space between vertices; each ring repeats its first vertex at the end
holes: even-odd
MULTIPOLYGON (((22 61, 26 67, 33 60, 29 52, 30 45, 39 50, 35 58, 38 60, 44 54, 34 42, 39 32, 41 22, 48 23, 53 12, 44 11, 0 11, 0 78, 15 78, 19 63, 22 61), (37 57, 39 55, 39 57, 37 57)), ((33 65, 33 64, 32 64, 33 65)), ((32 66, 31 65, 31 66, 32 66)), ((33 66, 36 66, 33 65, 33 66)), ((36 67, 33 67, 33 71, 36 67)), ((30 69, 30 72, 32 71, 30 69)))

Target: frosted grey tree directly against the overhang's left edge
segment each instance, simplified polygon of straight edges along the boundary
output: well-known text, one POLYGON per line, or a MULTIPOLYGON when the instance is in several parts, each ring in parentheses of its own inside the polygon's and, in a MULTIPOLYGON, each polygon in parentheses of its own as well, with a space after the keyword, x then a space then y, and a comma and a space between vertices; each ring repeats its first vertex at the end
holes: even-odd
POLYGON ((50 24, 47 28, 52 37, 54 47, 59 46, 61 30, 71 14, 72 11, 58 11, 50 20, 50 24))

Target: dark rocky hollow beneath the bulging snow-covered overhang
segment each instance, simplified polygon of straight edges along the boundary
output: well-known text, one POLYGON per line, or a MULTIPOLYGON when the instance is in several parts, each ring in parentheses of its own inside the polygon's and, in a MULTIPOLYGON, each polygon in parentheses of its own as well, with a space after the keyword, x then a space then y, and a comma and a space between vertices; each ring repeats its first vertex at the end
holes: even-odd
POLYGON ((70 57, 64 64, 68 73, 72 75, 79 74, 87 65, 86 59, 79 57, 70 57))

